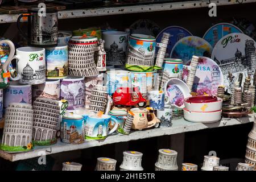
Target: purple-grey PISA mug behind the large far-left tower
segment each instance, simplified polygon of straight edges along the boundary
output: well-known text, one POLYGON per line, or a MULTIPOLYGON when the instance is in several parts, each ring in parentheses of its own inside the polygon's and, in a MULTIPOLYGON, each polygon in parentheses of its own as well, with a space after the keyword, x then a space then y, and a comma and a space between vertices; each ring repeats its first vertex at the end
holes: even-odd
POLYGON ((17 81, 11 81, 8 88, 4 89, 3 109, 9 107, 12 102, 32 104, 31 85, 22 85, 17 81))

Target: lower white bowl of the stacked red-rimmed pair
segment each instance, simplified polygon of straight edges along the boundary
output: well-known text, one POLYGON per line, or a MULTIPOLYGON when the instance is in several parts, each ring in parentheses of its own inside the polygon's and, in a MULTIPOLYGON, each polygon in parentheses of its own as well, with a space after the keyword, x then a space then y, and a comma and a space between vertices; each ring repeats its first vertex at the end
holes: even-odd
POLYGON ((221 119, 221 111, 212 111, 212 112, 195 112, 183 109, 184 119, 194 123, 214 123, 218 122, 221 119))

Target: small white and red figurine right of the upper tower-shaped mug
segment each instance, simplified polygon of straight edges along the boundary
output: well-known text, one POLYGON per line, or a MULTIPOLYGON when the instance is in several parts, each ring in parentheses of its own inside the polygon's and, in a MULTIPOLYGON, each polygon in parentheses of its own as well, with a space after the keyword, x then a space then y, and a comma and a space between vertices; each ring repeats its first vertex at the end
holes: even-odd
POLYGON ((104 40, 98 40, 98 47, 96 47, 96 59, 98 71, 106 71, 106 52, 104 50, 104 40))

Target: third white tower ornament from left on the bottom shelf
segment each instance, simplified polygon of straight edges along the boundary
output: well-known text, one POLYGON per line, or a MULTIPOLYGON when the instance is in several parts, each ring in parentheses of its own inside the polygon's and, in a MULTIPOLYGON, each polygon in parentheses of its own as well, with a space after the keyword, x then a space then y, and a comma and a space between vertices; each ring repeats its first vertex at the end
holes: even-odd
POLYGON ((141 152, 124 151, 120 171, 143 171, 141 166, 142 155, 141 152))

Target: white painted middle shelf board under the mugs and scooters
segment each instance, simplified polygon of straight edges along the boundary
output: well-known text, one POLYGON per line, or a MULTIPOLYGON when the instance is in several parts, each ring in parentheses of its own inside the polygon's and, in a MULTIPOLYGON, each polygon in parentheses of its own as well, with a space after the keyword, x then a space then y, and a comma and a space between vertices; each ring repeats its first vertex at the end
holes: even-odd
POLYGON ((184 133, 188 131, 197 131, 203 129, 211 129, 216 127, 223 127, 223 126, 232 126, 232 125, 240 125, 244 123, 254 122, 254 114, 250 114, 248 117, 238 118, 238 119, 230 119, 230 118, 222 118, 220 122, 216 123, 192 123, 185 121, 183 118, 176 119, 172 121, 172 127, 163 127, 163 128, 154 128, 154 129, 147 129, 142 131, 135 131, 130 135, 121 135, 121 134, 114 134, 107 137, 105 140, 86 140, 86 142, 82 144, 67 144, 58 141, 56 144, 52 146, 40 146, 35 147, 34 150, 30 152, 23 152, 23 153, 15 153, 9 154, 5 151, 0 150, 0 157, 10 160, 11 162, 35 158, 41 155, 49 155, 49 154, 56 154, 65 151, 72 151, 72 150, 81 150, 84 148, 102 146, 105 144, 111 143, 118 143, 118 142, 128 142, 130 140, 138 140, 144 138, 151 138, 151 137, 159 137, 163 135, 173 135, 178 133, 184 133))

